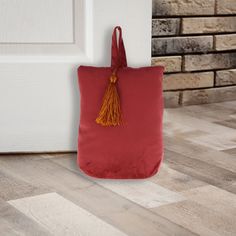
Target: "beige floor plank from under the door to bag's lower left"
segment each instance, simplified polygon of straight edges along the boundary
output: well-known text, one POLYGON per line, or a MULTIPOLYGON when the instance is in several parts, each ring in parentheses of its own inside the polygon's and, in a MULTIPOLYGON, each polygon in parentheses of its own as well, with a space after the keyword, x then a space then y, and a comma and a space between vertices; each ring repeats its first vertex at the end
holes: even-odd
POLYGON ((50 159, 38 158, 38 156, 40 155, 36 155, 35 159, 33 155, 0 158, 0 170, 11 171, 15 178, 30 182, 38 188, 46 188, 48 192, 57 189, 79 189, 93 184, 77 173, 69 172, 64 167, 51 162, 50 159))

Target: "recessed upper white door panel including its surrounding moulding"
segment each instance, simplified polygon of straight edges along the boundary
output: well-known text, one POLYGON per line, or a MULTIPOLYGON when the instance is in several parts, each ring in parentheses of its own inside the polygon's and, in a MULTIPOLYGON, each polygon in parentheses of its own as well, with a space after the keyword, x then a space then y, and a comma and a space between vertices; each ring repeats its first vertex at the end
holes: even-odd
POLYGON ((0 0, 0 55, 85 56, 89 8, 91 0, 0 0))

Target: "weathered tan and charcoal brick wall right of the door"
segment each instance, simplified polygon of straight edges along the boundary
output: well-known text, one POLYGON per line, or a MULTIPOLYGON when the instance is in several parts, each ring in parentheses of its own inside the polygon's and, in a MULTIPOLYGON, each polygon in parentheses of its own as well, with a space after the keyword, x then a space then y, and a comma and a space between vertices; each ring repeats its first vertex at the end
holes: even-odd
POLYGON ((166 107, 236 100, 236 0, 153 0, 166 107))

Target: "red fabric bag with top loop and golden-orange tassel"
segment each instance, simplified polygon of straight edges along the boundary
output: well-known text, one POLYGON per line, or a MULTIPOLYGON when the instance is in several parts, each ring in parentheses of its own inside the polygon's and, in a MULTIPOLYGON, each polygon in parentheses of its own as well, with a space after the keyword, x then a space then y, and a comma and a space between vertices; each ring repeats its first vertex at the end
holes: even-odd
POLYGON ((162 66, 127 67, 118 26, 112 36, 111 67, 78 68, 77 163, 83 172, 111 179, 157 173, 163 158, 163 71, 162 66))

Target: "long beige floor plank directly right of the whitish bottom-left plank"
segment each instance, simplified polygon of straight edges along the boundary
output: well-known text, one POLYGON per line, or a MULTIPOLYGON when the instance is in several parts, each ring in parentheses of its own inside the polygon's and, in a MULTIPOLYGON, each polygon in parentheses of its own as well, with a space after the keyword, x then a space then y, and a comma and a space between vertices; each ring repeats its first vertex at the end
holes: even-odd
POLYGON ((195 235, 99 185, 60 194, 131 236, 195 235))

